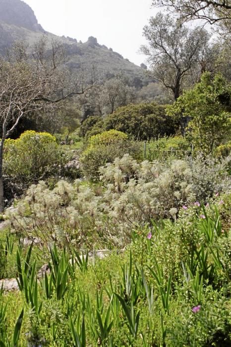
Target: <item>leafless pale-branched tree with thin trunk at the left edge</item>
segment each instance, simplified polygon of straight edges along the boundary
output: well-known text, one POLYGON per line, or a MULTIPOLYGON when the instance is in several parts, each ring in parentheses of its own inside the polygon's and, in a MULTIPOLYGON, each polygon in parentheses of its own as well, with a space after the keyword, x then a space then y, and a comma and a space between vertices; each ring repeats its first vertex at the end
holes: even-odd
POLYGON ((89 84, 84 76, 68 83, 68 74, 61 67, 61 46, 47 44, 42 38, 29 59, 26 47, 15 44, 7 58, 0 57, 0 211, 4 208, 2 161, 5 139, 17 127, 22 117, 43 110, 75 94, 83 94, 94 83, 94 71, 89 84))

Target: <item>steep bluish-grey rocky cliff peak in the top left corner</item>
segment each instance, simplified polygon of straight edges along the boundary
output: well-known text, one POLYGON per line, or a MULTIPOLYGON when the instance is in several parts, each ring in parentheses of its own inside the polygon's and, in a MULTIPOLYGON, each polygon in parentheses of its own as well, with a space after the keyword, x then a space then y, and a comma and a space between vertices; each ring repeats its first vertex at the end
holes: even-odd
POLYGON ((0 0, 0 21, 32 31, 44 32, 34 11, 21 0, 0 0))

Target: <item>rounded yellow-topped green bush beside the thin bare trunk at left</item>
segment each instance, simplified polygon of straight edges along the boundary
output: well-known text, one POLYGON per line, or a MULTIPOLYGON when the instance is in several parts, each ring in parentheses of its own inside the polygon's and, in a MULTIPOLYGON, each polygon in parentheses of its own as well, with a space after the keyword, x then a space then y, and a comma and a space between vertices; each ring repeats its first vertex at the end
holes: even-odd
POLYGON ((5 141, 4 173, 16 180, 34 182, 57 171, 60 152, 49 133, 25 131, 18 139, 5 141))

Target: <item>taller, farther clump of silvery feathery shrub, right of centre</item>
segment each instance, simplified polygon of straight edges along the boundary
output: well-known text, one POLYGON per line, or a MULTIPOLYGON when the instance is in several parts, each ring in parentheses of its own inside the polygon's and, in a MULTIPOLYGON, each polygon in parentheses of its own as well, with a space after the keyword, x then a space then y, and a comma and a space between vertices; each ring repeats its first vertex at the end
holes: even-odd
POLYGON ((107 183, 104 200, 109 215, 135 226, 151 219, 168 218, 194 200, 188 164, 176 160, 169 167, 158 162, 137 164, 129 155, 101 169, 107 183))

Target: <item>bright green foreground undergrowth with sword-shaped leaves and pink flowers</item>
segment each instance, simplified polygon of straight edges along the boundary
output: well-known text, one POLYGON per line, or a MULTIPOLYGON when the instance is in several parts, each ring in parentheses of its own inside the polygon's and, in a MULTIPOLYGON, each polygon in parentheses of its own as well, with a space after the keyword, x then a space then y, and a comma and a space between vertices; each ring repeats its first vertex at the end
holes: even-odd
POLYGON ((134 229, 103 260, 7 237, 20 291, 0 294, 2 346, 229 346, 231 195, 216 201, 134 229))

